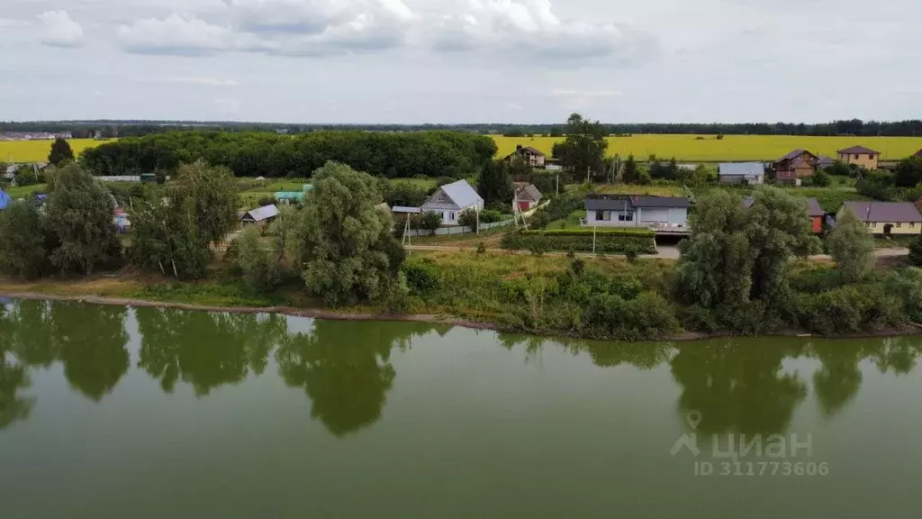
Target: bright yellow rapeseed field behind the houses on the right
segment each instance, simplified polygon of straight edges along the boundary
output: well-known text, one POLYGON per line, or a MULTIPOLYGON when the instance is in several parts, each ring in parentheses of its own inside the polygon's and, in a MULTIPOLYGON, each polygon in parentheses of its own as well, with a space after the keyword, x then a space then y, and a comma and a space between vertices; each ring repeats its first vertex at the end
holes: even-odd
MULTIPOLYGON (((609 155, 618 153, 621 157, 633 153, 638 159, 650 155, 661 158, 675 157, 680 161, 774 161, 785 153, 798 148, 817 155, 835 158, 835 151, 850 146, 867 146, 881 151, 885 161, 895 161, 912 155, 922 149, 922 137, 798 137, 798 136, 748 136, 727 135, 717 140, 713 135, 634 135, 632 137, 609 137, 609 155)), ((562 139, 551 137, 500 137, 494 136, 504 157, 515 151, 515 145, 532 146, 550 155, 554 142, 562 139)))

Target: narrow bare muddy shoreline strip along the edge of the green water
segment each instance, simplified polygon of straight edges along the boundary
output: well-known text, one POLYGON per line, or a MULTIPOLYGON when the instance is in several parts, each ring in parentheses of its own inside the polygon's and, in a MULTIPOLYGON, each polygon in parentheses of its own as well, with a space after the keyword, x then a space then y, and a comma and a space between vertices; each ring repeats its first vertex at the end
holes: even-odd
MULTIPOLYGON (((347 312, 341 310, 330 310, 325 308, 295 308, 295 307, 286 307, 286 306, 273 306, 273 307, 227 307, 227 306, 213 306, 213 305, 197 305, 194 303, 176 303, 169 301, 153 301, 149 299, 140 299, 136 297, 110 297, 110 296, 93 296, 93 295, 77 295, 77 296, 65 296, 65 295, 54 295, 54 294, 45 294, 41 292, 17 292, 9 291, 0 288, 0 297, 6 297, 10 299, 31 299, 31 300, 42 300, 42 301, 77 301, 80 303, 90 303, 94 305, 108 305, 108 306, 119 306, 119 307, 133 307, 133 308, 177 308, 183 310, 194 310, 194 311, 207 311, 207 312, 226 312, 226 313, 271 313, 278 314, 290 317, 300 317, 308 319, 322 319, 322 320, 351 320, 351 321, 366 321, 366 320, 380 320, 380 321, 392 321, 392 322, 428 322, 431 324, 446 324, 449 326, 457 326, 461 328, 467 328, 470 330, 489 330, 493 332, 507 332, 507 333, 520 333, 524 335, 537 335, 540 337, 553 339, 555 337, 568 337, 583 339, 586 341, 615 341, 613 339, 593 339, 580 337, 578 335, 571 335, 566 333, 554 333, 554 332, 527 332, 521 330, 514 330, 509 327, 502 326, 499 323, 487 322, 487 321, 477 321, 477 320, 465 320, 451 317, 444 317, 436 314, 380 314, 380 313, 360 313, 360 312, 347 312)), ((868 339, 875 337, 912 337, 922 335, 922 325, 916 323, 906 324, 903 328, 889 328, 884 330, 879 330, 876 332, 862 332, 862 333, 853 333, 845 335, 818 335, 815 333, 803 333, 802 331, 797 330, 786 330, 781 332, 773 332, 765 335, 752 335, 751 337, 800 337, 805 339, 868 339)), ((658 341, 649 341, 649 342, 663 342, 663 343, 692 343, 697 341, 705 341, 708 339, 719 339, 719 338, 730 338, 730 337, 746 337, 744 335, 733 334, 730 332, 680 332, 676 335, 673 335, 668 338, 660 339, 658 341)), ((622 341, 616 341, 622 342, 622 341)), ((648 342, 648 341, 644 341, 648 342)))

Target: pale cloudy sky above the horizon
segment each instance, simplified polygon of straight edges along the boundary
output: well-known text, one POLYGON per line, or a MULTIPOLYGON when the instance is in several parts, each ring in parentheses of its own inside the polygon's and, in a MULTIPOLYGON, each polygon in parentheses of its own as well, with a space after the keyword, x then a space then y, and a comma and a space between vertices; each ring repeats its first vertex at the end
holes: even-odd
POLYGON ((0 0, 0 119, 922 117, 919 0, 0 0))

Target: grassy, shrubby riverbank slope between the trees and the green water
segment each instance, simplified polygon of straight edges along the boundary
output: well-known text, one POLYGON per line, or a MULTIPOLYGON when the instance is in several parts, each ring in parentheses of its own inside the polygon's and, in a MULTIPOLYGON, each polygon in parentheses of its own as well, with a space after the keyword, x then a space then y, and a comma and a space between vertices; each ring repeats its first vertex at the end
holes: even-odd
POLYGON ((129 270, 33 283, 0 279, 0 296, 97 297, 122 304, 262 309, 331 319, 429 320, 628 341, 723 334, 915 333, 911 321, 922 315, 922 296, 912 277, 917 271, 882 270, 863 284, 840 284, 828 263, 798 262, 790 274, 788 314, 766 316, 747 308, 726 316, 678 300, 674 266, 668 259, 416 253, 404 266, 409 300, 402 316, 385 315, 372 306, 324 308, 322 300, 305 294, 298 278, 268 294, 254 292, 218 265, 205 280, 189 283, 129 270))

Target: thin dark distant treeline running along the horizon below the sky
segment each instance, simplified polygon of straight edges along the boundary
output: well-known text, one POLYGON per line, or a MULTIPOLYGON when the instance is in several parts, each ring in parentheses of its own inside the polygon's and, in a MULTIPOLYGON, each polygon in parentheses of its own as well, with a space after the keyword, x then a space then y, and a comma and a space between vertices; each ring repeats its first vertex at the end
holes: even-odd
MULTIPOLYGON (((807 125, 803 123, 742 123, 742 124, 605 124, 609 134, 705 134, 705 135, 810 135, 835 136, 855 135, 862 137, 922 137, 922 120, 908 121, 862 121, 860 119, 833 121, 831 123, 807 125)), ((508 123, 479 123, 471 125, 317 125, 280 123, 238 123, 221 121, 143 121, 143 120, 100 120, 100 121, 36 121, 2 122, 3 131, 47 131, 71 132, 77 139, 95 137, 96 131, 103 138, 141 137, 172 131, 190 129, 214 129, 228 132, 283 131, 289 135, 315 131, 372 131, 372 132, 419 132, 431 130, 453 130, 479 134, 498 135, 550 135, 559 136, 564 125, 515 125, 508 123)))

